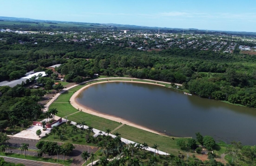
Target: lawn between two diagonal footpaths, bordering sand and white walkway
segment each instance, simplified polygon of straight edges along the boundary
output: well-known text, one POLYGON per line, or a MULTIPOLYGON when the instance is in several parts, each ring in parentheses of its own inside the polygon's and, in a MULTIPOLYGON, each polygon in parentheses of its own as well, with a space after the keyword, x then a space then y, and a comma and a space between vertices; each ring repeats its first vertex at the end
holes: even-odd
POLYGON ((71 116, 68 117, 68 120, 70 121, 74 121, 74 122, 81 122, 81 121, 85 121, 87 125, 92 126, 95 129, 99 129, 99 130, 104 130, 103 128, 105 127, 105 129, 115 129, 116 127, 118 127, 119 125, 121 125, 118 122, 115 121, 111 121, 105 118, 101 118, 95 115, 91 115, 91 114, 87 114, 84 112, 79 112, 76 114, 73 114, 71 116))

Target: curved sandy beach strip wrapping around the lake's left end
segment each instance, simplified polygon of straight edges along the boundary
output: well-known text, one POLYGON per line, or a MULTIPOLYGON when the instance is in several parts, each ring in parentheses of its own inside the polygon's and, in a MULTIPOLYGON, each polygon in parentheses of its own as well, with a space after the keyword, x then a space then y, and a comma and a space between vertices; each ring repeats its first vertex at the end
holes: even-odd
MULTIPOLYGON (((92 108, 86 107, 86 106, 84 106, 84 105, 82 105, 82 104, 80 104, 80 103, 78 103, 76 101, 76 98, 79 96, 79 94, 83 90, 85 90, 86 88, 88 88, 88 87, 90 87, 90 86, 92 86, 94 84, 108 83, 108 82, 131 82, 131 83, 144 83, 144 84, 154 84, 154 85, 159 85, 159 86, 165 86, 165 85, 162 85, 162 84, 149 83, 149 82, 140 82, 140 81, 118 81, 118 80, 102 81, 102 82, 97 82, 97 83, 89 84, 89 85, 87 85, 85 87, 82 87, 78 91, 76 91, 76 93, 74 93, 73 96, 70 98, 70 104, 73 107, 75 107, 76 109, 78 109, 78 108, 79 108, 79 110, 82 109, 83 112, 88 113, 88 114, 96 115, 98 117, 102 117, 102 118, 105 118, 105 119, 108 119, 108 120, 112 120, 112 121, 116 121, 116 122, 121 122, 122 124, 126 124, 126 125, 129 125, 129 126, 132 126, 132 127, 136 127, 136 128, 139 128, 139 129, 142 129, 142 130, 145 130, 145 131, 149 131, 149 132, 152 132, 152 133, 155 133, 155 134, 165 135, 163 133, 157 132, 157 131, 149 129, 147 127, 144 127, 144 126, 135 124, 133 122, 127 121, 127 120, 125 120, 123 118, 119 118, 119 117, 115 117, 113 115, 108 115, 108 114, 100 113, 100 112, 98 112, 96 110, 93 110, 92 108)), ((165 136, 167 136, 167 135, 165 135, 165 136)))

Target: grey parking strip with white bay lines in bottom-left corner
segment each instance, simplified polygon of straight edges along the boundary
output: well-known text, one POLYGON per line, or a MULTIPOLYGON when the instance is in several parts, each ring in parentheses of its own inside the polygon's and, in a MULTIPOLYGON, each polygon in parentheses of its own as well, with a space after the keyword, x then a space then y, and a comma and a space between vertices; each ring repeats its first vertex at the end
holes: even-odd
POLYGON ((11 162, 16 164, 22 163, 26 166, 62 166, 60 164, 38 162, 38 161, 32 161, 32 160, 26 160, 26 159, 16 159, 16 158, 4 157, 4 156, 1 156, 1 158, 4 158, 6 162, 11 162))

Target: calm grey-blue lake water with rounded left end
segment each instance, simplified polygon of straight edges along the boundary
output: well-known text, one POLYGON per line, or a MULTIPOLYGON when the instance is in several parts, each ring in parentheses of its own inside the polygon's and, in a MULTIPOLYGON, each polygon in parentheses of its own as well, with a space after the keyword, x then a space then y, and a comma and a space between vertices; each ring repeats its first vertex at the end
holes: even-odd
POLYGON ((166 131, 167 135, 195 138, 196 132, 216 140, 256 144, 256 109, 187 96, 166 87, 127 82, 95 84, 78 102, 99 112, 166 131))

